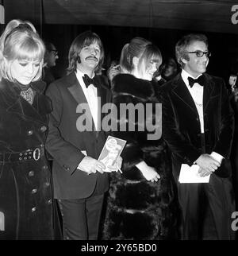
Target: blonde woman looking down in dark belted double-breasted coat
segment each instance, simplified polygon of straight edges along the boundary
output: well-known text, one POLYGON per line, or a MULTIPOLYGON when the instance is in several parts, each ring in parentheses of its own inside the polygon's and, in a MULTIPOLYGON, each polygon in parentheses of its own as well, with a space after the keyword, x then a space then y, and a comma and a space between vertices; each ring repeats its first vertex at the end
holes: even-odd
POLYGON ((51 173, 44 154, 48 97, 44 43, 30 22, 0 37, 0 240, 54 239, 51 173))

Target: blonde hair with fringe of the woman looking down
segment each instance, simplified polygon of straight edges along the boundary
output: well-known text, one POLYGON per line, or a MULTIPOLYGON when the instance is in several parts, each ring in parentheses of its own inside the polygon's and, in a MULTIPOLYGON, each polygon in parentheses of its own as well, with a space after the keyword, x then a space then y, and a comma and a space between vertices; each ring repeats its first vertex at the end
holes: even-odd
POLYGON ((0 37, 0 80, 14 81, 11 64, 14 60, 38 60, 39 71, 33 81, 40 80, 44 61, 44 42, 29 21, 12 20, 0 37))

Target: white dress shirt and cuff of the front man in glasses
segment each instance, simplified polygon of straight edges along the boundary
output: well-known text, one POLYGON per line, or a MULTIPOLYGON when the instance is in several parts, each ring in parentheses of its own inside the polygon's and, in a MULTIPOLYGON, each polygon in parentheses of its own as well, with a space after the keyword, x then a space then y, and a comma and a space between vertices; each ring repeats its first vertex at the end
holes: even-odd
MULTIPOLYGON (((190 76, 190 74, 188 72, 186 72, 184 69, 182 69, 181 76, 182 76, 182 80, 186 84, 186 87, 190 91, 190 95, 194 99, 194 103, 197 108, 198 116, 199 116, 199 120, 200 120, 201 133, 203 134, 204 133, 203 87, 199 83, 194 83, 194 86, 190 87, 189 81, 187 79, 190 76)), ((199 76, 202 76, 202 74, 199 76)), ((197 77, 190 76, 190 77, 192 77, 193 79, 198 79, 199 76, 197 76, 197 77)), ((222 159, 224 158, 219 153, 216 153, 216 152, 212 152, 210 155, 211 155, 211 157, 213 157, 220 163, 221 163, 222 159)))

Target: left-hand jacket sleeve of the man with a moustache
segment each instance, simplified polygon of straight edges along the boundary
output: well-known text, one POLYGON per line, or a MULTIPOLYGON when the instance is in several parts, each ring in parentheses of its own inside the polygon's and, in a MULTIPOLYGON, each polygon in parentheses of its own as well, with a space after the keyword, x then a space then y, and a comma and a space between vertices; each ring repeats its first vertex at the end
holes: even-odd
POLYGON ((74 173, 85 155, 80 149, 63 139, 59 125, 62 120, 63 99, 59 87, 52 83, 46 95, 52 100, 52 113, 49 115, 49 130, 46 140, 48 153, 70 174, 74 173))

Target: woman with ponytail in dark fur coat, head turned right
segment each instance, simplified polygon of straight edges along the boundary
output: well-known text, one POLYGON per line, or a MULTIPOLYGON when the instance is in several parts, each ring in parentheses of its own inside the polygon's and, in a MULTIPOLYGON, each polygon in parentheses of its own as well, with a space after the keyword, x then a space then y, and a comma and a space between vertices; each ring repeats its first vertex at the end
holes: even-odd
POLYGON ((132 39, 121 53, 122 73, 113 78, 113 103, 118 126, 128 126, 113 136, 127 143, 121 153, 122 174, 110 176, 103 239, 176 238, 171 161, 161 139, 160 105, 152 84, 161 63, 159 48, 140 37, 132 39), (121 103, 140 106, 144 114, 141 116, 140 109, 134 120, 121 118, 121 103))

